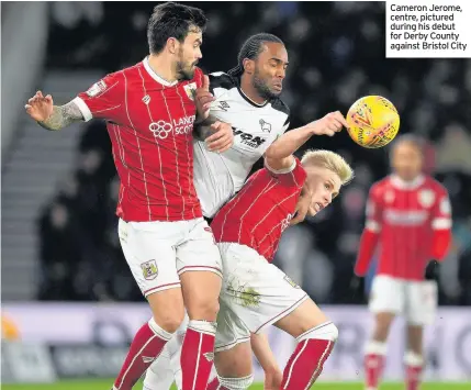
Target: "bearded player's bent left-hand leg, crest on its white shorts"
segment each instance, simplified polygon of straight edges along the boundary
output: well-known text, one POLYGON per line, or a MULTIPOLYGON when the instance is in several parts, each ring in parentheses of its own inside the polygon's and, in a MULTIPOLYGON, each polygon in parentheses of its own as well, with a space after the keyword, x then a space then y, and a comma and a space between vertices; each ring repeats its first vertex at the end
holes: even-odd
POLYGON ((131 390, 180 326, 184 315, 180 281, 176 271, 172 223, 125 223, 119 233, 131 271, 146 297, 153 317, 134 336, 114 382, 114 389, 131 390))

